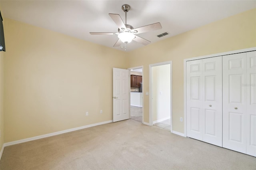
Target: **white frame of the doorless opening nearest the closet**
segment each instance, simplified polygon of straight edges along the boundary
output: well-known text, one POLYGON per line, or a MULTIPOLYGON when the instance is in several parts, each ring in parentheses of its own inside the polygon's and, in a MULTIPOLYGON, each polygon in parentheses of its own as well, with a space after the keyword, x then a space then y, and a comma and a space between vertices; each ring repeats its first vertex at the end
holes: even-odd
POLYGON ((149 125, 153 125, 152 121, 152 67, 159 66, 159 65, 166 65, 170 64, 170 118, 171 118, 171 126, 170 131, 172 132, 172 61, 165 61, 161 63, 154 63, 149 65, 149 125))

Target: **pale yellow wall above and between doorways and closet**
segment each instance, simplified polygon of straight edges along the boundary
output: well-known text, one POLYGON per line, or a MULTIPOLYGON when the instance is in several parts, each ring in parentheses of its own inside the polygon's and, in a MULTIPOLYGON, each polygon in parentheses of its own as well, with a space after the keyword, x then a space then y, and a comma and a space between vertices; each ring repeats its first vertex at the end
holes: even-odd
MULTIPOLYGON (((172 61, 173 130, 184 132, 183 60, 225 51, 256 47, 256 9, 219 20, 178 36, 126 53, 129 67, 172 61), (136 61, 133 63, 132 61, 136 61)), ((143 70, 144 122, 149 121, 149 70, 143 70)))

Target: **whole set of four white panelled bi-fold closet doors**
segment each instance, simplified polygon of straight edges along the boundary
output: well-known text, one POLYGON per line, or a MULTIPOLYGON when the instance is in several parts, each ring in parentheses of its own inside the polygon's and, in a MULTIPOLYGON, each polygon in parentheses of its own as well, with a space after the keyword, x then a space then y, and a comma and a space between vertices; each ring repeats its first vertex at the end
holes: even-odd
POLYGON ((256 51, 186 61, 186 131, 256 156, 256 51))

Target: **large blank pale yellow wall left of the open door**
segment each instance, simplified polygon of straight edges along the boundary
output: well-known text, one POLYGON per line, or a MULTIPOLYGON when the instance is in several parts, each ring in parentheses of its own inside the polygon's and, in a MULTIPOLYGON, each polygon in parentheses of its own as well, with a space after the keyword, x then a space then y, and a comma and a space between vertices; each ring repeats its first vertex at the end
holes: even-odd
POLYGON ((7 18, 4 30, 4 142, 112 120, 124 52, 7 18))

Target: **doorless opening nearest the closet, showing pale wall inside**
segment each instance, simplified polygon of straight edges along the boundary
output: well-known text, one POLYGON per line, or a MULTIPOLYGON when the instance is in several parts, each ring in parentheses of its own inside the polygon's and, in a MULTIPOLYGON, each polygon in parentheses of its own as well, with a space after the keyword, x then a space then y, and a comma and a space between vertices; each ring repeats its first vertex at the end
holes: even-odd
POLYGON ((172 132, 172 61, 150 66, 150 125, 172 132))

